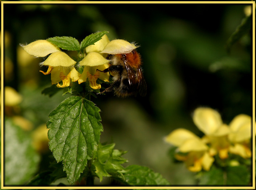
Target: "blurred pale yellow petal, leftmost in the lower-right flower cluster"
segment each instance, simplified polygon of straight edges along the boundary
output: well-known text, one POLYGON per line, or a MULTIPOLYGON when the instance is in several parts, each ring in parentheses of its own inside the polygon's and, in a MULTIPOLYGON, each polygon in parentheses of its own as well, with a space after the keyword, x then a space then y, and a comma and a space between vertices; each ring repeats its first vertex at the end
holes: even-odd
POLYGON ((187 139, 199 138, 191 131, 178 128, 172 131, 169 135, 164 138, 164 141, 173 144, 174 146, 181 146, 187 139))

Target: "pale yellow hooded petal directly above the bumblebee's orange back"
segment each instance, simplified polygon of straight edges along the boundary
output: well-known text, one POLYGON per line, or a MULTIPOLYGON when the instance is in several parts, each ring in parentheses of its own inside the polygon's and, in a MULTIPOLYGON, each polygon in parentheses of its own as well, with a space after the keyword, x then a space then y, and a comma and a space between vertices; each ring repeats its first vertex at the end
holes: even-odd
POLYGON ((129 43, 126 40, 112 40, 100 53, 107 53, 107 54, 127 54, 132 50, 136 49, 138 46, 135 46, 132 43, 129 43))

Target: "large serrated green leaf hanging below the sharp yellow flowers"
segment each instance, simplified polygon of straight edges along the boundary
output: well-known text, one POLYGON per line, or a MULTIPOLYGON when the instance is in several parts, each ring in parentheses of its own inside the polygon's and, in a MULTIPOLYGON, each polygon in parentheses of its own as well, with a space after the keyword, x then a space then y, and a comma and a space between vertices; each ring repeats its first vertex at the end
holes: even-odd
POLYGON ((100 109, 81 97, 69 97, 53 110, 47 122, 49 147, 56 161, 63 161, 68 182, 74 183, 92 158, 103 127, 100 109))

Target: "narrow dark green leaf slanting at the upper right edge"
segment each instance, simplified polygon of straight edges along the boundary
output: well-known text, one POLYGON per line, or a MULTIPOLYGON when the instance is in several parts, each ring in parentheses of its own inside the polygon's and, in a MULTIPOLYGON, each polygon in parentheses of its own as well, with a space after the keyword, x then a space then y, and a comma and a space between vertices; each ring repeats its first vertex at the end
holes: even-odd
POLYGON ((245 17, 241 24, 237 27, 235 32, 232 33, 232 35, 227 40, 226 49, 229 52, 231 46, 237 42, 240 38, 243 37, 246 33, 249 32, 249 30, 252 28, 252 14, 250 16, 245 17))

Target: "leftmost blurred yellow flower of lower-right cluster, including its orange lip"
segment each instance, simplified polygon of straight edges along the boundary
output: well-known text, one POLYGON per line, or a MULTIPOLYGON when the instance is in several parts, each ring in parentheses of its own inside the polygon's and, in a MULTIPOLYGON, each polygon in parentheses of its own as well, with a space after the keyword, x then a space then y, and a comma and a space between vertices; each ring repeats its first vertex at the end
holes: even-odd
POLYGON ((208 171, 211 168, 214 158, 209 155, 208 146, 191 131, 179 128, 164 140, 178 147, 179 152, 175 158, 184 161, 190 171, 198 172, 202 168, 208 171))

